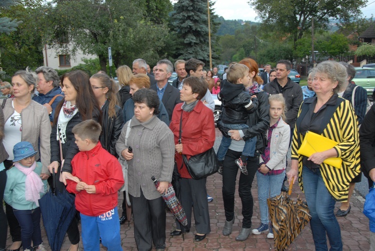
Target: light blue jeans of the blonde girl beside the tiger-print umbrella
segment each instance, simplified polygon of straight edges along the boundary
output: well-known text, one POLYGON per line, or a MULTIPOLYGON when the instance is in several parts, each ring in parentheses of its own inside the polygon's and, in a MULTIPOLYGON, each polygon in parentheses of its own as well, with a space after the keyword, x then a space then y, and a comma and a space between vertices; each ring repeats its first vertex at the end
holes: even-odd
POLYGON ((263 175, 259 171, 256 172, 260 222, 263 224, 268 224, 267 199, 275 197, 281 193, 281 186, 284 177, 285 170, 281 174, 277 175, 263 175))

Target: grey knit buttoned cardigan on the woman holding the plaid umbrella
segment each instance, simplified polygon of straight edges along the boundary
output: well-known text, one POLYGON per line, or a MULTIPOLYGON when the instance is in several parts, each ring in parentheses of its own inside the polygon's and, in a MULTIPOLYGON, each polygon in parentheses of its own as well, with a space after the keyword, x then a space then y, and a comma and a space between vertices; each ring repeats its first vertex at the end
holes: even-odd
POLYGON ((134 156, 128 161, 128 192, 133 197, 140 197, 142 189, 147 200, 157 199, 161 194, 156 191, 151 177, 154 176, 160 182, 171 182, 174 166, 173 134, 156 115, 143 123, 133 116, 125 145, 128 123, 129 121, 123 126, 116 143, 116 152, 120 159, 123 159, 121 152, 128 146, 133 149, 134 156))

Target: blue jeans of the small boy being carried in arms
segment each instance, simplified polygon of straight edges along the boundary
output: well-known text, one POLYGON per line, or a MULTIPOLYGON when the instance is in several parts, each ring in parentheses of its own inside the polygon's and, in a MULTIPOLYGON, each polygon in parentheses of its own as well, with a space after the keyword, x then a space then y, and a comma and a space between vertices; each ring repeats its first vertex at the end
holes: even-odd
MULTIPOLYGON (((222 124, 222 125, 230 130, 242 130, 242 129, 248 128, 248 126, 245 124, 222 124)), ((232 141, 231 138, 222 137, 220 146, 216 153, 217 160, 219 161, 224 160, 225 154, 228 151, 231 141, 232 141)), ((246 140, 245 146, 243 147, 243 150, 242 150, 242 155, 253 157, 254 152, 255 152, 255 145, 256 145, 256 137, 252 137, 246 140)))

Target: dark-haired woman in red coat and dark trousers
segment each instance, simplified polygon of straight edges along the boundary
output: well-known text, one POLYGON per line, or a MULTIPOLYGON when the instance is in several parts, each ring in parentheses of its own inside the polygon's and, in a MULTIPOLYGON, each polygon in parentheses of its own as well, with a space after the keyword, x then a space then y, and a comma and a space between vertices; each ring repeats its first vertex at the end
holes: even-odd
MULTIPOLYGON (((200 101, 207 92, 204 80, 193 76, 188 77, 183 80, 183 87, 179 92, 183 103, 174 107, 169 128, 174 135, 175 160, 178 172, 181 175, 180 202, 187 218, 187 226, 183 227, 182 230, 185 233, 190 231, 192 205, 196 229, 194 240, 200 242, 211 231, 205 188, 206 178, 192 179, 180 154, 186 155, 189 159, 190 156, 209 150, 215 141, 215 125, 212 111, 200 101), (179 143, 180 120, 182 120, 182 133, 179 143)), ((176 225, 177 229, 170 233, 171 236, 182 234, 181 226, 178 222, 176 222, 176 225)))

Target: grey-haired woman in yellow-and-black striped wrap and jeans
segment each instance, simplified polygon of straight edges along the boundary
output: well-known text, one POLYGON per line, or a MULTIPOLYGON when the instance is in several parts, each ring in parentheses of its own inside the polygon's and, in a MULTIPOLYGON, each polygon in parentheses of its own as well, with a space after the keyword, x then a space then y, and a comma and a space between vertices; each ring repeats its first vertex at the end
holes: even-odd
POLYGON ((336 201, 348 199, 351 180, 359 174, 358 123, 348 100, 337 95, 347 82, 346 68, 335 61, 319 63, 312 71, 312 89, 316 97, 303 100, 295 123, 291 144, 289 183, 294 178, 304 192, 310 210, 310 227, 315 249, 341 251, 340 226, 334 216, 336 201), (315 152, 309 157, 298 154, 306 132, 313 132, 338 142, 332 148, 315 152), (340 158, 337 168, 324 163, 340 158))

